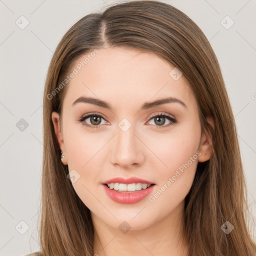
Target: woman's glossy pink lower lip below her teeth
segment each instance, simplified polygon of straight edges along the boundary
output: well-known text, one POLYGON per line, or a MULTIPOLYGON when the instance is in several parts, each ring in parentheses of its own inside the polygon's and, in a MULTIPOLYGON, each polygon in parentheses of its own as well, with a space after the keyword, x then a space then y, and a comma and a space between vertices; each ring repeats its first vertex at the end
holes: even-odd
POLYGON ((102 184, 102 186, 105 189, 106 194, 115 202, 119 203, 136 203, 144 199, 150 192, 153 190, 153 186, 151 185, 147 187, 146 189, 141 189, 139 191, 135 192, 118 192, 115 191, 114 189, 108 188, 106 185, 102 184))

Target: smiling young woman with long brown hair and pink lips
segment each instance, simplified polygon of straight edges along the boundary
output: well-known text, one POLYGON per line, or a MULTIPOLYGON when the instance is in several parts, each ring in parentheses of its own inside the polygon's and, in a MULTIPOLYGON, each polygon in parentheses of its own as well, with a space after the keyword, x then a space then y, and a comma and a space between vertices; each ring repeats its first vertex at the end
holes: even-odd
POLYGON ((76 22, 43 121, 38 255, 256 255, 219 64, 178 9, 131 1, 76 22))

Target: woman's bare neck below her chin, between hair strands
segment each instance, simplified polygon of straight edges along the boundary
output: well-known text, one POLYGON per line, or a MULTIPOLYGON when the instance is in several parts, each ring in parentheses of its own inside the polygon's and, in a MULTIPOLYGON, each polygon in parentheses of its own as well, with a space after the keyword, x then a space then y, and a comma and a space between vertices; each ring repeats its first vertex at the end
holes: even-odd
MULTIPOLYGON (((94 227, 93 251, 95 256, 185 256, 187 244, 183 240, 182 201, 169 215, 146 228, 121 232, 109 226, 91 212, 94 227)), ((119 221, 120 223, 122 220, 119 221)))

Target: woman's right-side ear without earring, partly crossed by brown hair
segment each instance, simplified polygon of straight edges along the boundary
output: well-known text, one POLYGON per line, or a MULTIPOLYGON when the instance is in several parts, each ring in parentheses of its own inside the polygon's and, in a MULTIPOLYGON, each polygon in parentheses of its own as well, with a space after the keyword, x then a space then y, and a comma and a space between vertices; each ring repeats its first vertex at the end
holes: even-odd
MULTIPOLYGON (((210 126, 214 129, 214 121, 212 116, 207 116, 206 120, 210 124, 210 126)), ((205 162, 210 158, 212 154, 212 134, 211 133, 208 133, 205 130, 202 131, 200 146, 198 150, 201 153, 198 156, 198 162, 205 162)))

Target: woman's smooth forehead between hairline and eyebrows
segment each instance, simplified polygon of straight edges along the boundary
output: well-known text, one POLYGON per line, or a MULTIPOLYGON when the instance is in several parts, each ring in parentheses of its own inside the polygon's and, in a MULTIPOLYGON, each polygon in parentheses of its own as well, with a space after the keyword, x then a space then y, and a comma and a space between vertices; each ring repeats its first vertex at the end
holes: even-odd
POLYGON ((81 55, 70 68, 75 75, 64 98, 69 106, 80 96, 114 101, 118 107, 167 96, 194 103, 185 77, 173 79, 174 66, 154 53, 125 47, 99 48, 92 53, 81 55))

